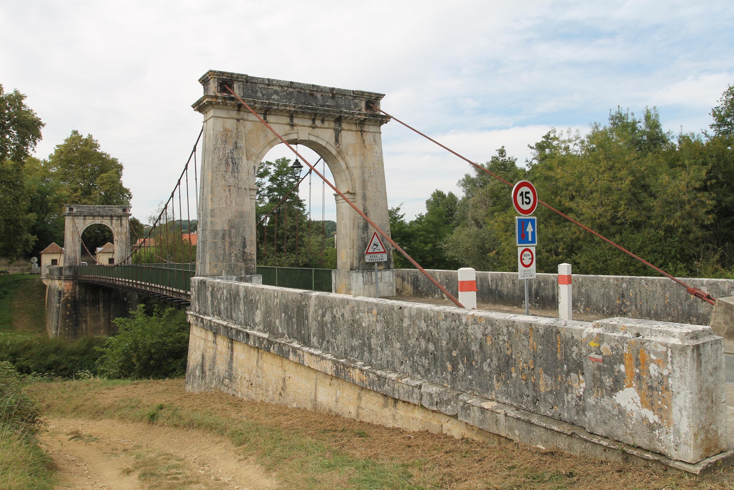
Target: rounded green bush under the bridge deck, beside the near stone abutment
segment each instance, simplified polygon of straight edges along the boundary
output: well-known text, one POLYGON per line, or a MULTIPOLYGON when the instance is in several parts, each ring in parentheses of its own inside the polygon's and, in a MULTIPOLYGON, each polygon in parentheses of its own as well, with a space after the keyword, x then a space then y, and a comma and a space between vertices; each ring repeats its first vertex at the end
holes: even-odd
POLYGON ((98 347, 98 372, 109 378, 177 378, 186 373, 189 324, 183 311, 138 306, 131 317, 117 318, 117 335, 98 347))

